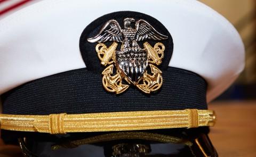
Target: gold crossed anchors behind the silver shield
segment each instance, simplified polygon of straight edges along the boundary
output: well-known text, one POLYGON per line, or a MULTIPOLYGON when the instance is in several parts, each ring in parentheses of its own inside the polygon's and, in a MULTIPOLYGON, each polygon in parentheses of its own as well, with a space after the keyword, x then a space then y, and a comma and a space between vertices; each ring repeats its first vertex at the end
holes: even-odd
MULTIPOLYGON (((113 75, 113 68, 115 63, 115 51, 117 48, 117 43, 113 42, 111 46, 107 47, 105 44, 100 43, 95 47, 98 57, 101 61, 101 64, 108 67, 102 72, 102 84, 103 87, 108 92, 115 92, 116 94, 124 92, 130 86, 130 81, 122 74, 116 72, 113 75), (129 85, 124 84, 123 79, 128 82, 129 85)), ((146 51, 148 52, 148 63, 151 71, 151 75, 148 73, 148 70, 143 73, 143 76, 140 80, 135 84, 140 90, 145 93, 150 93, 161 88, 163 84, 162 71, 159 70, 155 65, 159 65, 162 63, 162 59, 164 57, 164 49, 165 46, 162 43, 156 43, 154 47, 152 47, 148 42, 143 44, 146 51)))

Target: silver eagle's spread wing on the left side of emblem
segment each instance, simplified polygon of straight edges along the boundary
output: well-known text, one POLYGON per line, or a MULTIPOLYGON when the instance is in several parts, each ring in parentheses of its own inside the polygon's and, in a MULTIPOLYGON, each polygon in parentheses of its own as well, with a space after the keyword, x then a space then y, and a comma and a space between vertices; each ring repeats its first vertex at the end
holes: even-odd
POLYGON ((104 42, 122 42, 123 35, 122 29, 116 20, 109 20, 100 30, 99 34, 95 37, 87 39, 91 43, 104 43, 104 42))

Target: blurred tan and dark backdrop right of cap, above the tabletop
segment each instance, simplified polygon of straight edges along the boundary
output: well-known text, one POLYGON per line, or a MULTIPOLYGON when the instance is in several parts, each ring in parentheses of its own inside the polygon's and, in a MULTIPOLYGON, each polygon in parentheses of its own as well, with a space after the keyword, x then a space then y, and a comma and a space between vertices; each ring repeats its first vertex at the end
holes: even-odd
POLYGON ((245 70, 220 100, 256 99, 256 1, 201 0, 227 18, 241 35, 246 51, 245 70))

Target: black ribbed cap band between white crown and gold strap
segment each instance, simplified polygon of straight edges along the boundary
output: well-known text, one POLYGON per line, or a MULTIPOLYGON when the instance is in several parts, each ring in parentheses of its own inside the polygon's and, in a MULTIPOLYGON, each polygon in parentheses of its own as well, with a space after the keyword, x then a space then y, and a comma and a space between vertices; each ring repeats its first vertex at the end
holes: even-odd
POLYGON ((58 73, 14 88, 2 95, 5 114, 97 113, 207 109, 206 82, 197 74, 169 67, 164 86, 154 94, 130 87, 115 95, 102 87, 98 73, 86 68, 58 73))

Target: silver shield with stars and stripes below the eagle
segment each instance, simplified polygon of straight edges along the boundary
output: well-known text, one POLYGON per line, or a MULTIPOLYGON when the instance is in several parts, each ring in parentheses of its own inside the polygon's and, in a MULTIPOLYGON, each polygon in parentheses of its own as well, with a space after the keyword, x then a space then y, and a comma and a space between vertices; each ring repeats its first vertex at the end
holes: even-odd
POLYGON ((148 66, 148 54, 146 49, 140 49, 138 52, 116 51, 115 53, 116 68, 119 72, 123 73, 132 84, 137 84, 148 66))

